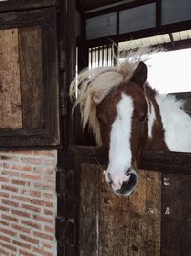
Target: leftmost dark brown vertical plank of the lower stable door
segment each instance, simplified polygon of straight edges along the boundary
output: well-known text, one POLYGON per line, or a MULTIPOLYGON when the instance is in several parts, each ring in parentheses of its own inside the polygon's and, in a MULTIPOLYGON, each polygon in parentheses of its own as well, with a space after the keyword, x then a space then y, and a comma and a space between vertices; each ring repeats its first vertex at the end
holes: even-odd
POLYGON ((82 164, 80 174, 79 250, 80 256, 98 252, 98 193, 97 166, 82 164))

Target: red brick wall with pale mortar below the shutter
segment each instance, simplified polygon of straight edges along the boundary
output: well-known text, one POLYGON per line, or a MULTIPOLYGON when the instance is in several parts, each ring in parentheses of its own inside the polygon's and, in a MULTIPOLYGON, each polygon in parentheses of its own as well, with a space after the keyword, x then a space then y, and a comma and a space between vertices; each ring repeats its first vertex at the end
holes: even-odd
POLYGON ((0 151, 0 255, 56 255, 56 161, 56 150, 0 151))

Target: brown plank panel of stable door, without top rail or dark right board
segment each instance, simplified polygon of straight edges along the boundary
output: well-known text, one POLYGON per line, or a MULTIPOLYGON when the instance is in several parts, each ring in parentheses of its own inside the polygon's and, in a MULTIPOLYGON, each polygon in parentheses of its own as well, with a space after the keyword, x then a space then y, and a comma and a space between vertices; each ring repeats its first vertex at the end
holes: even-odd
POLYGON ((122 197, 106 185, 97 165, 82 165, 80 255, 160 255, 161 174, 140 170, 138 175, 135 193, 122 197))

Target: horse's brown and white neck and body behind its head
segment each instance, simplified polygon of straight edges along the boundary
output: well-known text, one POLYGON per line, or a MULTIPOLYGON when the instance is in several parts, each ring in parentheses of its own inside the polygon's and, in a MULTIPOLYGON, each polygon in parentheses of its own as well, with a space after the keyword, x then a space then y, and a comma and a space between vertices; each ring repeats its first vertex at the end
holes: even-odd
POLYGON ((191 118, 175 98, 146 89, 148 99, 148 142, 156 151, 191 152, 191 118))

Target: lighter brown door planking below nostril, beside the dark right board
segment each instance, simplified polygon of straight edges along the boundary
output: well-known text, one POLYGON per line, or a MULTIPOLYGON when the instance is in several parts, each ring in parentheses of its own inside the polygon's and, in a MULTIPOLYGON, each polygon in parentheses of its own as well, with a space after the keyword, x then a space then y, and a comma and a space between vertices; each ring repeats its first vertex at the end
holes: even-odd
POLYGON ((129 197, 128 256, 160 255, 161 174, 139 170, 138 187, 129 197))

